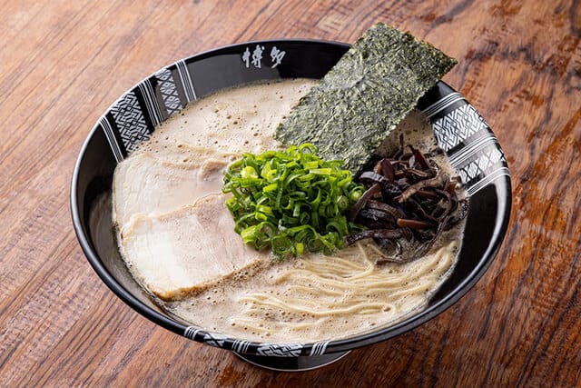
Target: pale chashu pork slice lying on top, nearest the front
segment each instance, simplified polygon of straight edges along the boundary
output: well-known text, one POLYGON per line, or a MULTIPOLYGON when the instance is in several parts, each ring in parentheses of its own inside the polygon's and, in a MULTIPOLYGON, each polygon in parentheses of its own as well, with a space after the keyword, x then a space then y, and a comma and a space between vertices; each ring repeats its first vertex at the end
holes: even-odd
POLYGON ((203 291, 267 262, 267 252, 243 244, 224 194, 211 194, 169 214, 137 215, 120 247, 133 276, 164 301, 203 291))

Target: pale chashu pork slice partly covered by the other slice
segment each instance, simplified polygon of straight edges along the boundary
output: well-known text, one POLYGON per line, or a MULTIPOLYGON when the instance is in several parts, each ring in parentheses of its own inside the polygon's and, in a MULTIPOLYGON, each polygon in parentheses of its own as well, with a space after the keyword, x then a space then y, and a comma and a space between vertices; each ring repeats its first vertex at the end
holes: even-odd
POLYGON ((122 162, 115 170, 113 219, 123 232, 133 216, 165 214, 220 193, 226 164, 212 158, 202 165, 173 164, 152 154, 135 154, 132 163, 122 162))

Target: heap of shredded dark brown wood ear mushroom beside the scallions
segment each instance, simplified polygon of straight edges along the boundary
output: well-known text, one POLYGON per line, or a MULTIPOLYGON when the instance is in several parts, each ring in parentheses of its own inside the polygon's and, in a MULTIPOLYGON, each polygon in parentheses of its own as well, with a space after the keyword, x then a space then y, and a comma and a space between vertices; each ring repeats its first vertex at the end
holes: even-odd
MULTIPOLYGON (((438 151, 439 152, 439 151, 438 151)), ((468 214, 458 199, 460 178, 449 177, 434 160, 399 137, 399 150, 359 175, 367 187, 350 221, 367 229, 345 236, 345 244, 372 238, 382 252, 378 264, 408 263, 427 254, 442 232, 468 214)))

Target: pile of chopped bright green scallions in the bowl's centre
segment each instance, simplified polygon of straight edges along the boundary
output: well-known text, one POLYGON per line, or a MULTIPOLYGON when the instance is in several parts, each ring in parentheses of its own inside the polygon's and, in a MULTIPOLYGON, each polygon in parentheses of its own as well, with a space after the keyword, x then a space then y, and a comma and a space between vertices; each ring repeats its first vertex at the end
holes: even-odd
POLYGON ((236 233, 257 250, 270 247, 285 258, 310 252, 330 254, 343 247, 343 236, 360 226, 344 214, 365 188, 352 181, 342 161, 324 161, 313 144, 286 151, 246 153, 224 176, 226 205, 236 233))

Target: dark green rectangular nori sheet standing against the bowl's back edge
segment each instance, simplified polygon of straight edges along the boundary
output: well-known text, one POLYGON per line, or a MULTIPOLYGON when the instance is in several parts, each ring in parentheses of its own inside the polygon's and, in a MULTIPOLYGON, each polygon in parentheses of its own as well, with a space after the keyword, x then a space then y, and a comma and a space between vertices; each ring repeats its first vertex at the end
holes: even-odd
POLYGON ((274 137, 312 143, 353 174, 456 60, 413 35, 373 25, 300 99, 274 137))

